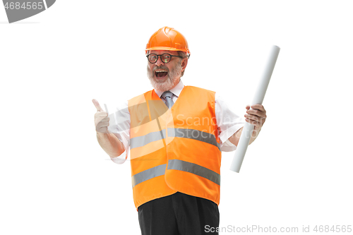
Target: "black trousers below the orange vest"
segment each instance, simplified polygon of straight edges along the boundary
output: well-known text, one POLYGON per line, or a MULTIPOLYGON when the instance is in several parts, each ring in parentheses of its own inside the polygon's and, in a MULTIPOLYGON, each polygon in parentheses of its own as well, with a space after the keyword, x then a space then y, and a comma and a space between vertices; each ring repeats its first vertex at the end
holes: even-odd
POLYGON ((218 206, 184 193, 151 200, 138 207, 142 235, 206 235, 220 224, 218 206), (206 232, 208 231, 208 232, 206 232))

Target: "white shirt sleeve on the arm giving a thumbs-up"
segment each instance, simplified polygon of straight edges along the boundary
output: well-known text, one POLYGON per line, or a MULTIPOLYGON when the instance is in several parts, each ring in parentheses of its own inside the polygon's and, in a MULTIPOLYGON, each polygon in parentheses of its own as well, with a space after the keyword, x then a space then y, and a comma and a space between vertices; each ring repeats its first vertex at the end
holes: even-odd
POLYGON ((116 164, 123 164, 128 158, 130 146, 130 112, 128 112, 128 101, 116 107, 112 114, 109 114, 108 131, 116 135, 123 143, 125 148, 124 153, 119 157, 110 157, 116 164))

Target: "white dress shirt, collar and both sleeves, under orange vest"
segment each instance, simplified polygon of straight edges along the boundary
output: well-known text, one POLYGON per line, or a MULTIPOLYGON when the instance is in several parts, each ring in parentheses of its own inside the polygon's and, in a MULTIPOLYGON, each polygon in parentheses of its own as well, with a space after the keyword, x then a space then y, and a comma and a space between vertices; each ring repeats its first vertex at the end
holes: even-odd
MULTIPOLYGON (((180 95, 181 90, 183 90, 184 84, 181 82, 171 89, 170 92, 173 93, 172 100, 175 103, 180 95)), ((162 91, 155 90, 156 94, 165 103, 162 95, 162 91)), ((233 145, 228 138, 236 133, 241 127, 244 126, 245 120, 242 116, 234 114, 228 107, 227 104, 222 100, 220 95, 215 92, 215 114, 218 126, 218 133, 220 136, 220 150, 225 152, 230 152, 237 149, 236 145, 233 145)), ((114 114, 109 114, 109 117, 114 114)), ((128 101, 121 104, 121 106, 116 107, 116 112, 110 121, 114 123, 109 123, 109 131, 114 133, 119 140, 124 144, 126 155, 121 155, 119 157, 111 157, 113 162, 117 164, 124 163, 128 157, 128 150, 130 146, 130 113, 128 112, 128 101)))

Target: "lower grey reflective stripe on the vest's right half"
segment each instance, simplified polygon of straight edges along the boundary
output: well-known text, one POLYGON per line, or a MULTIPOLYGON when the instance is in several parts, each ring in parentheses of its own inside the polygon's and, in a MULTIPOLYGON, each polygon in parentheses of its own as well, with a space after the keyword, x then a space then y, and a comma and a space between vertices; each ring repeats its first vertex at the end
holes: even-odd
POLYGON ((220 174, 195 163, 172 159, 168 161, 168 169, 190 172, 220 185, 220 174))

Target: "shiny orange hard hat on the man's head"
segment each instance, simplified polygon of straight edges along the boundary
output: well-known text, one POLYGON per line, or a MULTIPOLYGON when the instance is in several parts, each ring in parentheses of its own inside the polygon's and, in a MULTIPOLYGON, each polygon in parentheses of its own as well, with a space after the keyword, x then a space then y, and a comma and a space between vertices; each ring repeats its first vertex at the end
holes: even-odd
POLYGON ((174 28, 167 26, 160 28, 150 37, 145 52, 150 50, 181 51, 190 55, 186 38, 174 28))

